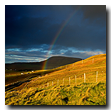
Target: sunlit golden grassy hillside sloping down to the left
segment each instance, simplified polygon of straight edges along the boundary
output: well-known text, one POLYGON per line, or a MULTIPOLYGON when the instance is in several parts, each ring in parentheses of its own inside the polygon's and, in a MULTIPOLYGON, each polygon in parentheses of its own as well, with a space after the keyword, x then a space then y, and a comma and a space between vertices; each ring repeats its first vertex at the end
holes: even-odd
POLYGON ((5 104, 105 105, 106 54, 58 67, 39 78, 33 77, 29 82, 6 91, 5 104))

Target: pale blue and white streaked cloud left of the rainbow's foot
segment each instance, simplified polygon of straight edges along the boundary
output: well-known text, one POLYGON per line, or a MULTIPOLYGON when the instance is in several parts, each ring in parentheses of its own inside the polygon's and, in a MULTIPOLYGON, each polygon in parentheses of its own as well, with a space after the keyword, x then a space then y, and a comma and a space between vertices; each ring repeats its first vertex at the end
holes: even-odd
MULTIPOLYGON (((19 49, 18 49, 19 50, 19 49)), ((41 49, 31 50, 19 50, 17 49, 5 49, 5 63, 12 62, 40 62, 46 59, 45 54, 47 52, 41 51, 41 49)))

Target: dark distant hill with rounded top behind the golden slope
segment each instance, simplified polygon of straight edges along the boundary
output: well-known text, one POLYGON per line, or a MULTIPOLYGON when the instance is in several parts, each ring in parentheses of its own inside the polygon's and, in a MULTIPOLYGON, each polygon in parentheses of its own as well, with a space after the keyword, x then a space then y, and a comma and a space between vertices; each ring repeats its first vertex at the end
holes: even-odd
POLYGON ((42 69, 45 62, 47 62, 46 69, 52 69, 55 67, 66 65, 66 64, 71 64, 80 60, 82 59, 63 57, 63 56, 53 56, 41 62, 15 62, 11 64, 5 64, 5 69, 12 69, 12 70, 17 70, 17 71, 40 70, 42 69))

